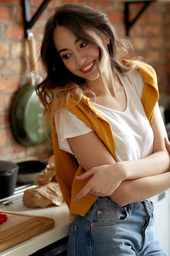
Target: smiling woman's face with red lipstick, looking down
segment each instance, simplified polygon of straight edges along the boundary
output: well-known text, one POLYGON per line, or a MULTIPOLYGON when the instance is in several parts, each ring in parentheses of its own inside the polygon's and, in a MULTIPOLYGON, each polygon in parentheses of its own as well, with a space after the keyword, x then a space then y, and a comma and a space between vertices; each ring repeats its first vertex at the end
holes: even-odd
MULTIPOLYGON (((94 32, 91 35, 94 36, 95 40, 99 40, 99 45, 106 51, 107 44, 104 45, 101 38, 94 32)), ((96 44, 79 40, 70 29, 61 25, 55 28, 53 41, 57 52, 69 71, 86 81, 94 81, 99 77, 99 48, 96 44)), ((101 66, 104 66, 104 61, 108 61, 108 58, 102 60, 101 66)))

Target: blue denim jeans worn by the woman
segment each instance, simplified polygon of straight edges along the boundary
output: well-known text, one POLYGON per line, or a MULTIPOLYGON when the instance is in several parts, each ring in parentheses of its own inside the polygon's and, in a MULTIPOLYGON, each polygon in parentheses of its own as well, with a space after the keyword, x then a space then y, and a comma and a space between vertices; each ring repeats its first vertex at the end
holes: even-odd
POLYGON ((120 207, 99 197, 82 217, 75 215, 68 256, 167 256, 154 236, 153 204, 135 202, 120 207))

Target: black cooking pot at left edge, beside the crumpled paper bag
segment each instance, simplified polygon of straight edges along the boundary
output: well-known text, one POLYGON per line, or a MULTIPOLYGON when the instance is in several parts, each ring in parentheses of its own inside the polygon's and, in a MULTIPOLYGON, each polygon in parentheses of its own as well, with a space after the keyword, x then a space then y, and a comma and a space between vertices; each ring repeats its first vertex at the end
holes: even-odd
POLYGON ((18 164, 0 161, 0 199, 13 194, 18 175, 18 164))

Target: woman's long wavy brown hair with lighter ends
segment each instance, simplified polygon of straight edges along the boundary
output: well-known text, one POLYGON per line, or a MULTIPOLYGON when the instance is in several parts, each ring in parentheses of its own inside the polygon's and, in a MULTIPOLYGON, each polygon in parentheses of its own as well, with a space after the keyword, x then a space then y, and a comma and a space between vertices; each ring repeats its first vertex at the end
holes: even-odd
POLYGON ((102 48, 95 41, 95 38, 87 33, 88 29, 100 36, 103 42, 106 40, 106 36, 110 37, 108 52, 112 68, 121 73, 126 73, 131 68, 121 64, 121 59, 127 53, 127 40, 117 36, 105 13, 82 4, 62 4, 56 7, 54 14, 46 22, 44 38, 40 48, 40 60, 44 66, 46 77, 35 88, 44 106, 45 120, 48 119, 52 106, 55 106, 60 114, 63 103, 66 103, 69 99, 74 99, 77 103, 81 102, 82 95, 88 91, 85 79, 72 74, 65 67, 54 46, 53 32, 58 25, 65 26, 73 31, 79 40, 85 43, 95 43, 99 47, 99 74, 106 91, 107 85, 100 72, 102 48))

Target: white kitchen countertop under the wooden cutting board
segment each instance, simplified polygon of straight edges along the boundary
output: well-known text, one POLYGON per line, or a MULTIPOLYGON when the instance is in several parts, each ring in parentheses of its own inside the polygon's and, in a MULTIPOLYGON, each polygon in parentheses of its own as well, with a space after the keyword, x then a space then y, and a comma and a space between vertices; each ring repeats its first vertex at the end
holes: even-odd
MULTIPOLYGON (((69 214, 67 206, 53 206, 46 208, 24 207, 22 200, 9 205, 0 204, 0 211, 13 211, 36 216, 50 217, 55 220, 55 227, 44 233, 34 236, 18 245, 0 252, 0 256, 29 256, 34 252, 50 245, 57 240, 68 236, 73 216, 69 214)), ((10 239, 10 234, 9 234, 10 239)))

